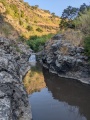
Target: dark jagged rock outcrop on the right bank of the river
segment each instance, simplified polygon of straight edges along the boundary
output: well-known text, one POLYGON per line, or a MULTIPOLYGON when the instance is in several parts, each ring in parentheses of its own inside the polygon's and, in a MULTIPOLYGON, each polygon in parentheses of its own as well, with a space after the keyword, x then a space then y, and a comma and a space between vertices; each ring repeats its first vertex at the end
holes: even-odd
POLYGON ((90 64, 84 48, 73 45, 63 35, 58 34, 45 44, 42 62, 50 72, 90 84, 90 64))

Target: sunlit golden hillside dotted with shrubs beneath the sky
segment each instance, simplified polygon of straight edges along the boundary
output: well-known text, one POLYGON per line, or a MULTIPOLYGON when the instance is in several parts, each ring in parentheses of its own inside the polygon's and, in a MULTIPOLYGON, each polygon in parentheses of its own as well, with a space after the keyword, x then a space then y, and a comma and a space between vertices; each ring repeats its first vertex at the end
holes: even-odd
POLYGON ((0 0, 0 36, 17 38, 46 35, 59 30, 60 18, 23 0, 0 0))

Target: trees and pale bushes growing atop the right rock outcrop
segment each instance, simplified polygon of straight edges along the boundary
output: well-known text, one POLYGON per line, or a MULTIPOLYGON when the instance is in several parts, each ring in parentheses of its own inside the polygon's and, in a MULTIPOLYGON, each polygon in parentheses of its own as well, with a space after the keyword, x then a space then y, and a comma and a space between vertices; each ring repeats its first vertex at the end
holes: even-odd
MULTIPOLYGON (((64 9, 60 22, 60 30, 62 29, 65 30, 64 34, 71 31, 66 35, 67 38, 74 33, 70 36, 71 39, 76 36, 75 39, 79 42, 77 45, 83 45, 85 54, 90 58, 90 5, 84 3, 80 8, 68 6, 64 9)), ((73 42, 76 45, 75 39, 73 42)))

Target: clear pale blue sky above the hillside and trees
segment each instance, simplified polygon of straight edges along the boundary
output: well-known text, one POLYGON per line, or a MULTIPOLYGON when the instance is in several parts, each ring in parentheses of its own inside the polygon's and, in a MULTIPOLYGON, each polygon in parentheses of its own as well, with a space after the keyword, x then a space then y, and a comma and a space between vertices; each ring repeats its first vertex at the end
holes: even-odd
POLYGON ((54 12, 58 16, 61 16, 69 5, 80 7, 83 3, 90 4, 90 0, 24 0, 24 2, 28 2, 31 6, 39 5, 39 8, 54 12))

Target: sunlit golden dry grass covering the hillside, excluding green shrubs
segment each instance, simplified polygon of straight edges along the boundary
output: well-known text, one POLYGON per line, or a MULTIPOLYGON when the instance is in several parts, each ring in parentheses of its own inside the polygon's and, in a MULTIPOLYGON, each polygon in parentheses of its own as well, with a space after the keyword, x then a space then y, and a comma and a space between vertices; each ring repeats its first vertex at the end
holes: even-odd
MULTIPOLYGON (((29 38, 32 35, 42 36, 49 33, 56 33, 59 29, 60 19, 58 17, 53 17, 44 10, 39 8, 32 9, 31 6, 26 7, 25 3, 20 2, 19 0, 0 0, 0 3, 1 2, 6 4, 1 7, 1 12, 3 13, 3 8, 9 11, 4 14, 5 21, 11 24, 21 36, 23 35, 26 38, 29 38), (10 4, 16 6, 19 17, 16 16, 16 12, 14 13, 10 4), (21 11, 23 11, 23 16, 20 16, 21 11), (22 24, 20 24, 20 21, 22 21, 22 24), (32 31, 26 29, 28 25, 33 27, 32 31), (37 28, 42 29, 43 32, 38 32, 36 30, 37 28)), ((4 28, 4 31, 6 31, 7 36, 9 36, 6 28, 4 28)))

